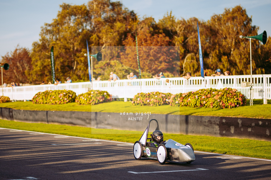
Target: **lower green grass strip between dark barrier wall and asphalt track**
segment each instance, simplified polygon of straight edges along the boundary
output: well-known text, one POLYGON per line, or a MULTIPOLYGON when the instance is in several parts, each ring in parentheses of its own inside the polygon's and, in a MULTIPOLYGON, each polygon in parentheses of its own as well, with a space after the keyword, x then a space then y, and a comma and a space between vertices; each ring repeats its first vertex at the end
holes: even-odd
MULTIPOLYGON (((139 132, 139 131, 93 129, 67 125, 22 123, 8 120, 0 120, 0 127, 77 137, 115 140, 131 143, 134 143, 135 141, 139 140, 141 135, 143 134, 143 131, 139 132), (114 135, 103 133, 113 133, 114 135)), ((179 134, 164 134, 164 139, 165 140, 173 139, 182 144, 189 142, 193 145, 194 150, 197 151, 271 159, 271 150, 270 150, 271 142, 269 141, 238 139, 228 137, 179 135, 179 134)))

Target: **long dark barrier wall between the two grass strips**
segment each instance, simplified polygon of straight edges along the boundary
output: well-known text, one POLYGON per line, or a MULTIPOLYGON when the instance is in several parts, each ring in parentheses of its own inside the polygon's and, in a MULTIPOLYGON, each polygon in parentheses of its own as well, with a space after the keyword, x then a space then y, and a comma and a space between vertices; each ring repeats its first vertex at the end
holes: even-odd
MULTIPOLYGON (((149 120, 156 119, 164 133, 240 137, 271 141, 271 119, 230 118, 184 115, 136 115, 133 113, 25 111, 1 108, 1 118, 30 123, 78 125, 92 128, 144 131, 149 120), (129 118, 137 118, 130 120, 129 118), (139 120, 140 118, 140 120, 139 120)), ((156 128, 151 124, 150 131, 156 128)))

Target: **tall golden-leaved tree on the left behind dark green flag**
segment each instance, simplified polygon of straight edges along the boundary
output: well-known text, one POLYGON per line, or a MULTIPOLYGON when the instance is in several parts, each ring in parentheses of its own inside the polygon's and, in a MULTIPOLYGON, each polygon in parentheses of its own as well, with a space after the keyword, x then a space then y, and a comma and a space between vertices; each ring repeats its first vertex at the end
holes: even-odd
POLYGON ((45 23, 39 42, 33 43, 32 81, 51 81, 50 49, 54 46, 55 74, 60 80, 87 79, 86 39, 90 37, 89 11, 85 5, 60 5, 53 22, 45 23))

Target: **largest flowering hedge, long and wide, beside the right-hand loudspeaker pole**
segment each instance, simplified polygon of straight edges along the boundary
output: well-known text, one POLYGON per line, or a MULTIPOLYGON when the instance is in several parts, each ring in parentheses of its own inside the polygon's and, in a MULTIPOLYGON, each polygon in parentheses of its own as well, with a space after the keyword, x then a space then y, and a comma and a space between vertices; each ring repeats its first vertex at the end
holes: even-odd
POLYGON ((237 89, 200 89, 171 96, 170 105, 210 108, 234 108, 244 106, 246 98, 237 89))

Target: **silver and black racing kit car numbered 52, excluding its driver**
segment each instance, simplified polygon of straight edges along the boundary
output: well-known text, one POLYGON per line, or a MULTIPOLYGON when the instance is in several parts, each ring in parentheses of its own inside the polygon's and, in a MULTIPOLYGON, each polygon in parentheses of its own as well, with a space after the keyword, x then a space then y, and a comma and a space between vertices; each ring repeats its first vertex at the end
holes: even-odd
POLYGON ((151 146, 152 138, 148 138, 147 136, 152 120, 156 121, 156 131, 159 131, 158 121, 156 119, 151 119, 140 140, 134 143, 133 154, 136 160, 145 157, 157 159, 160 164, 165 164, 166 161, 191 163, 195 160, 194 149, 189 143, 182 145, 181 143, 169 139, 159 144, 157 147, 151 146), (147 142, 147 140, 150 140, 150 142, 147 142))

